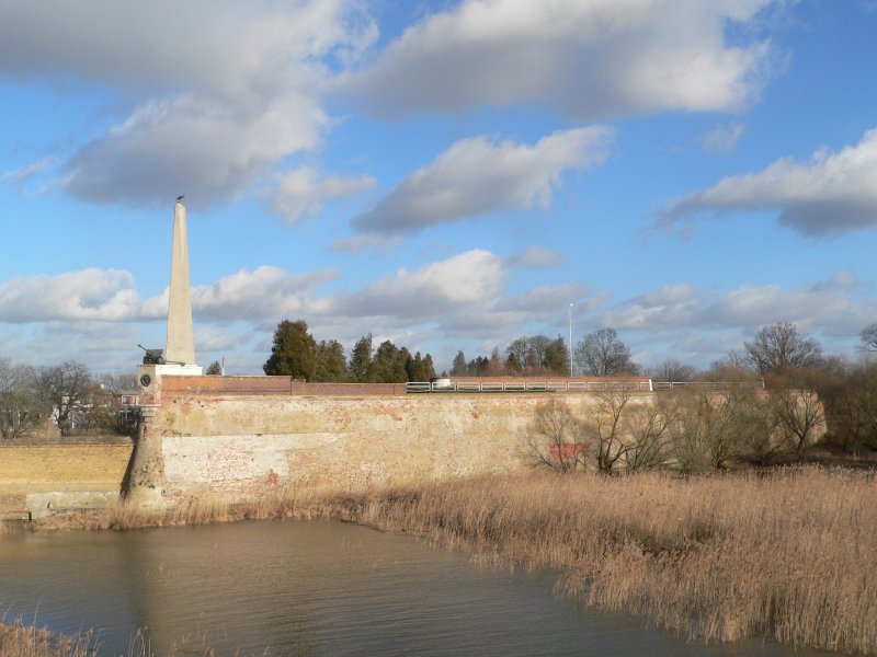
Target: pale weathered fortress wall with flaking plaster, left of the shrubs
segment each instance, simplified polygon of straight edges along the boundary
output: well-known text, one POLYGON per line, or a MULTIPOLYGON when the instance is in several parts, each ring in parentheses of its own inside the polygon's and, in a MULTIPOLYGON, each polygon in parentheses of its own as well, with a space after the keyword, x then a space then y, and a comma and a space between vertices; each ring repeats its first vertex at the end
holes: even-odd
POLYGON ((521 434, 538 404, 558 396, 572 407, 594 403, 592 395, 558 393, 289 394, 270 391, 264 378, 260 391, 241 392, 240 380, 223 389, 204 379, 161 380, 149 431, 160 436, 166 497, 513 471, 529 462, 521 434))

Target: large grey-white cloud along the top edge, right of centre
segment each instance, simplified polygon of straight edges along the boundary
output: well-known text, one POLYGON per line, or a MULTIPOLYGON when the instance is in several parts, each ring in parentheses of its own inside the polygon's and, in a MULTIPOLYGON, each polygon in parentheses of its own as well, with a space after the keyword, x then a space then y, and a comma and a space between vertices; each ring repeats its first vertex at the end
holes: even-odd
POLYGON ((771 50, 726 31, 774 2, 464 0, 406 30, 342 88, 378 114, 522 102, 577 118, 733 111, 759 93, 771 50))

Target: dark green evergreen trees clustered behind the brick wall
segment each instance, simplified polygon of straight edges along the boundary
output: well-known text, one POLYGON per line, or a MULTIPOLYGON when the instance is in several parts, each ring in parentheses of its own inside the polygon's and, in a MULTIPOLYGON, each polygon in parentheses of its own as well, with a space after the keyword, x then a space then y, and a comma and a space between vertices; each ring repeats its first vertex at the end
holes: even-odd
POLYGON ((375 349, 369 333, 356 341, 348 359, 340 342, 317 342, 304 320, 277 324, 271 356, 262 369, 265 374, 314 382, 405 383, 435 377, 430 354, 411 354, 389 339, 375 349))

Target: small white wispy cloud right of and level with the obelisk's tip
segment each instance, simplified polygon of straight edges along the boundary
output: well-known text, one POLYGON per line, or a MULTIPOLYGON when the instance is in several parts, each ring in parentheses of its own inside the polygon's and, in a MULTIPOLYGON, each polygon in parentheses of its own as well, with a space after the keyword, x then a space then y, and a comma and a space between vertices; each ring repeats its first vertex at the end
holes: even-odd
POLYGON ((275 215, 294 226, 300 219, 319 215, 326 200, 358 194, 375 186, 375 178, 329 176, 320 178, 308 166, 275 176, 275 185, 263 191, 262 196, 275 215))

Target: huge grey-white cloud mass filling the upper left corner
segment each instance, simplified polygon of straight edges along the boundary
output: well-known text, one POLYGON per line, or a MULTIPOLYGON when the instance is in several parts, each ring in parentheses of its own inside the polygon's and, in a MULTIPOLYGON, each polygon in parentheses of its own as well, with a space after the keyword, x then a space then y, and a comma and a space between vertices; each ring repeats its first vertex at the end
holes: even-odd
POLYGON ((324 62, 355 58, 374 38, 341 0, 5 3, 0 76, 98 83, 107 107, 123 107, 62 164, 71 195, 139 204, 185 192, 204 205, 319 143, 324 62))

